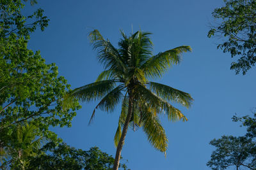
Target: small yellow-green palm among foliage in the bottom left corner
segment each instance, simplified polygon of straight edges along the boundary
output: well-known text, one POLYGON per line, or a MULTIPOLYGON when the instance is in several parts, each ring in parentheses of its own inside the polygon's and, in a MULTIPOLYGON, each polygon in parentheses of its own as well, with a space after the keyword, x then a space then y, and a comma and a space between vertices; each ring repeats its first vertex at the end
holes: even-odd
POLYGON ((5 139, 1 138, 1 142, 6 144, 0 153, 1 162, 3 162, 2 168, 8 167, 8 164, 10 164, 12 168, 25 169, 29 165, 28 157, 35 157, 36 150, 40 149, 44 139, 36 136, 37 131, 38 127, 36 125, 26 123, 17 125, 11 136, 8 136, 8 139, 6 139, 4 132, 0 133, 1 136, 5 137, 5 139))

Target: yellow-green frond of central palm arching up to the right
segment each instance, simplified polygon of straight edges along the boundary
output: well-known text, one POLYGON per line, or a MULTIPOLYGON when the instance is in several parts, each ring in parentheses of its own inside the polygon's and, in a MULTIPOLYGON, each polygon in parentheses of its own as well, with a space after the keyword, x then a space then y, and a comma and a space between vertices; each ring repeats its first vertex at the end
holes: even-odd
POLYGON ((182 52, 190 52, 190 46, 179 46, 166 52, 154 55, 141 66, 147 77, 161 77, 163 73, 173 64, 179 64, 182 52))

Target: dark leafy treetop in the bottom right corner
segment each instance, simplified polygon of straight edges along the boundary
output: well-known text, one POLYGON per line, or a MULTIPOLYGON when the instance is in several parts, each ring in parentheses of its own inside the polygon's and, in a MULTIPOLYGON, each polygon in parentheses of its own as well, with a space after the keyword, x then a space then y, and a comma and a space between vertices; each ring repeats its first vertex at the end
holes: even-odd
POLYGON ((222 136, 213 139, 210 144, 216 147, 207 163, 212 169, 227 169, 230 166, 253 169, 256 166, 256 145, 250 138, 222 136))

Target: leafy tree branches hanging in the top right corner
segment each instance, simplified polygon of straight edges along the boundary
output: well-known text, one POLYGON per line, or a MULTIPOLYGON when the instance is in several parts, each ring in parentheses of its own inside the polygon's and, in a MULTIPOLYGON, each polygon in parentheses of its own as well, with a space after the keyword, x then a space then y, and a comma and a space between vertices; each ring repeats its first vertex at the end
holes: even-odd
POLYGON ((218 45, 223 52, 231 57, 240 56, 232 62, 230 69, 246 74, 256 62, 256 1, 255 0, 224 0, 225 6, 216 8, 212 16, 220 20, 220 24, 212 26, 208 37, 225 37, 218 45))

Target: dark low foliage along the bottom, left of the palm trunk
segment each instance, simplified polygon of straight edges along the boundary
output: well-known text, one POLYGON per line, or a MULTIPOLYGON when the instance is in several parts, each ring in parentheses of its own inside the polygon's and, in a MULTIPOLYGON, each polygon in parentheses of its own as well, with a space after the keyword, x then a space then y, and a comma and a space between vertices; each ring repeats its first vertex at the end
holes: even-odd
MULTIPOLYGON (((28 169, 112 169, 113 157, 93 147, 88 151, 72 148, 65 143, 56 146, 47 143, 38 151, 37 157, 32 157, 28 169)), ((127 169, 125 164, 120 167, 127 169)))

